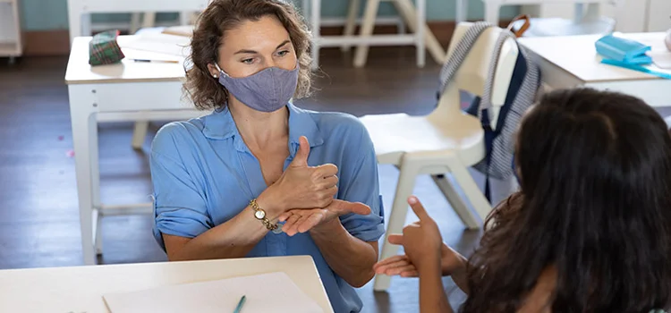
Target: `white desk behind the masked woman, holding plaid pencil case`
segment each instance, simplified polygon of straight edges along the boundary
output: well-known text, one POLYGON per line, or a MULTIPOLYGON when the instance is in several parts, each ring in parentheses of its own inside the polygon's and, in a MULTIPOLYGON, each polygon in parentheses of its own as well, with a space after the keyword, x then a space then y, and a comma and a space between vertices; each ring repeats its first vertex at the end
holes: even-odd
MULTIPOLYGON (((124 46, 133 36, 121 36, 124 46)), ((182 120, 195 111, 182 93, 183 63, 123 63, 91 67, 90 38, 75 38, 65 72, 70 97, 81 243, 84 264, 95 264, 102 253, 98 216, 151 212, 151 204, 103 207, 98 171, 98 122, 182 120)), ((123 49, 127 57, 175 59, 172 55, 123 49)), ((125 148, 125 147, 124 147, 125 148)))

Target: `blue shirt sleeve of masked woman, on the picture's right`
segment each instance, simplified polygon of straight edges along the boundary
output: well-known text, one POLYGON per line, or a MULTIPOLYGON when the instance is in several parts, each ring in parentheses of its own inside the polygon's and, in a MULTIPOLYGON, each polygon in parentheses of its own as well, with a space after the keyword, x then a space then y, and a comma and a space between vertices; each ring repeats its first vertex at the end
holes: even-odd
POLYGON ((379 193, 378 161, 368 131, 361 127, 361 140, 349 148, 351 166, 340 173, 339 199, 361 202, 370 207, 370 214, 341 216, 344 228, 361 241, 378 241, 385 233, 385 210, 379 193))

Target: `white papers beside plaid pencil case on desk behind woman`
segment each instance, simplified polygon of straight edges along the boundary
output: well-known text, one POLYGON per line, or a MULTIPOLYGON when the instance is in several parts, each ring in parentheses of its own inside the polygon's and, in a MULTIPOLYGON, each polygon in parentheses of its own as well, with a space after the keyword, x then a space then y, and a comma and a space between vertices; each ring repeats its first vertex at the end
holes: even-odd
POLYGON ((119 43, 119 46, 122 48, 186 57, 191 52, 190 44, 191 38, 188 37, 150 32, 136 35, 132 40, 119 43))

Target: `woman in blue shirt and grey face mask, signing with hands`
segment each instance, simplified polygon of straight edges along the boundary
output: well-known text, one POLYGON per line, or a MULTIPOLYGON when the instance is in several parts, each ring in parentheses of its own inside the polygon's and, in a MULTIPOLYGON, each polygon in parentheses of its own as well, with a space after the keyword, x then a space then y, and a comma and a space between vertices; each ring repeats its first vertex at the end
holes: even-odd
POLYGON ((376 157, 356 118, 289 102, 310 89, 308 47, 283 1, 208 5, 185 89, 214 113, 157 133, 154 234, 170 260, 310 255, 335 312, 358 312, 384 233, 376 157))

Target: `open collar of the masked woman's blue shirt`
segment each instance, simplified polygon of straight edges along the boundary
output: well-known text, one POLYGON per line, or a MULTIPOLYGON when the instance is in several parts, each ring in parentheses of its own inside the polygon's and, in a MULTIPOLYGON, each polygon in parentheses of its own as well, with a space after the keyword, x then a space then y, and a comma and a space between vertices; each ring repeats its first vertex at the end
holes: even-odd
MULTIPOLYGON (((287 108, 289 109, 289 148, 291 155, 293 156, 296 153, 300 145, 299 139, 301 136, 308 138, 310 148, 322 145, 324 138, 321 136, 319 127, 317 127, 317 123, 312 118, 312 114, 302 108, 293 106, 291 102, 287 105, 287 108)), ((208 139, 225 140, 234 137, 236 139, 235 148, 246 150, 244 142, 240 138, 240 132, 238 132, 235 126, 233 116, 231 116, 231 112, 226 108, 216 110, 212 114, 203 117, 203 124, 203 134, 208 139)))

